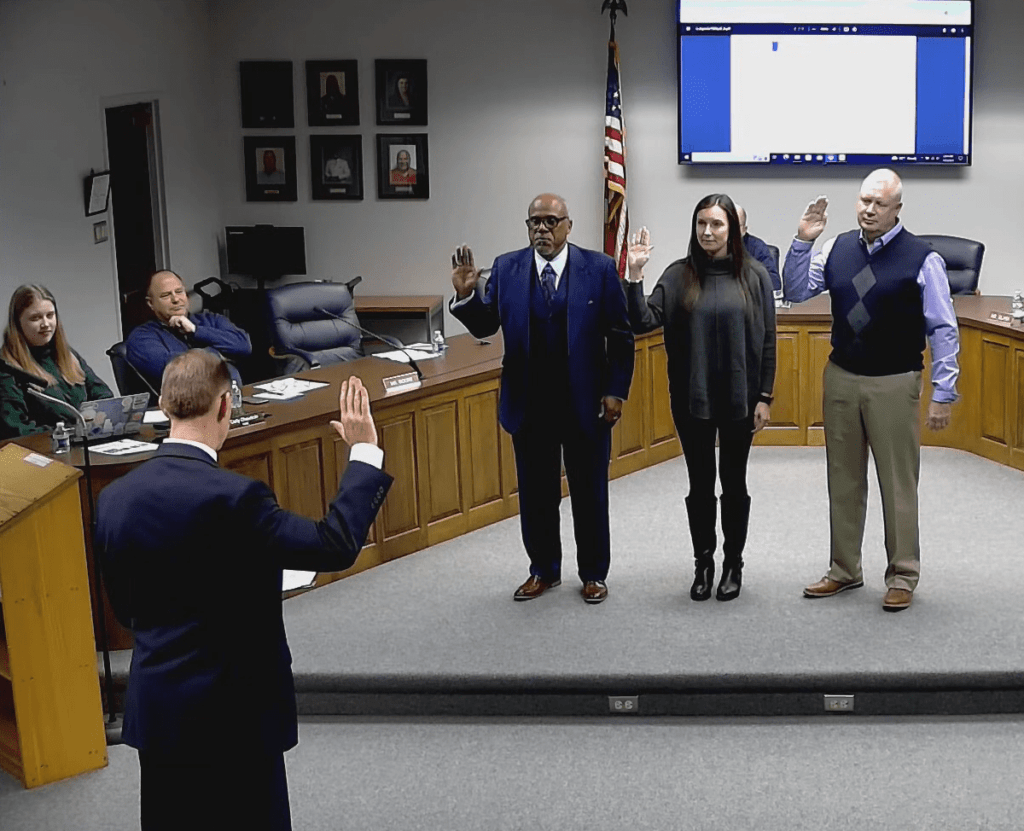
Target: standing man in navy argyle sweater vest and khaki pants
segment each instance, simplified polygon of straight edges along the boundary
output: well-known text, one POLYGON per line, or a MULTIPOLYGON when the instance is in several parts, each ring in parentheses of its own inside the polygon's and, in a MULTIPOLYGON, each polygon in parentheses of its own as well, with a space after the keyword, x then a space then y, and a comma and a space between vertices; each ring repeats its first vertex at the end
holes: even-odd
POLYGON ((921 387, 925 338, 932 347, 928 426, 949 424, 956 400, 959 338, 946 265, 899 221, 903 184, 877 170, 860 186, 859 231, 829 239, 811 256, 827 222, 818 196, 801 217, 782 269, 786 299, 827 291, 833 351, 822 383, 831 564, 804 596, 826 598, 864 584, 861 542, 870 448, 885 519, 886 611, 906 609, 918 587, 921 544, 921 387))

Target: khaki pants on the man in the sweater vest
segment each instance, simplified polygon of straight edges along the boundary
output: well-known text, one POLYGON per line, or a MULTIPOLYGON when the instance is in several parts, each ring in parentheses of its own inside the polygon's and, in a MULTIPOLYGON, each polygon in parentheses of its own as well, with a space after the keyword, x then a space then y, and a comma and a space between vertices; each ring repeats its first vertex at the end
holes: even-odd
POLYGON ((863 579, 869 447, 882 493, 886 585, 912 592, 921 574, 921 373, 857 376, 829 361, 822 389, 831 523, 828 576, 839 582, 863 579))

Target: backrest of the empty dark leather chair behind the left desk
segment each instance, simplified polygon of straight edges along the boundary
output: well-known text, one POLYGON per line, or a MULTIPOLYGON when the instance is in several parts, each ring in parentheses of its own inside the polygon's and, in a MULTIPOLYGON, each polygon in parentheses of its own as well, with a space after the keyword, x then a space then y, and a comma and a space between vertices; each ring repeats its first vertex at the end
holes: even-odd
POLYGON ((271 354, 285 375, 364 355, 349 282, 293 282, 268 289, 271 354), (326 312, 326 313, 325 313, 326 312))

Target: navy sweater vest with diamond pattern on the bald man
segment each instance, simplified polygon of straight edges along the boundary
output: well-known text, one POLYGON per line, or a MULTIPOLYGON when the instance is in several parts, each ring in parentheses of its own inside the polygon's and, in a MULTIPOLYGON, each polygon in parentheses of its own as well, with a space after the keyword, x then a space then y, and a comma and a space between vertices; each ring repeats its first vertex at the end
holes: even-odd
POLYGON ((860 231, 836 237, 824 268, 831 296, 833 363, 860 376, 924 367, 925 308, 918 274, 931 251, 907 230, 870 255, 860 231))

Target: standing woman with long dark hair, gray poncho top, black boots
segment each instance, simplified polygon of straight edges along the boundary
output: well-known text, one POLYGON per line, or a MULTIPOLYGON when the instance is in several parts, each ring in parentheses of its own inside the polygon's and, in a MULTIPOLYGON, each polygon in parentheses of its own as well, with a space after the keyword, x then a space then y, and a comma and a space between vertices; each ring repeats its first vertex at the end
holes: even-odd
POLYGON ((629 247, 627 299, 637 334, 665 327, 669 398, 683 445, 693 543, 693 600, 708 600, 715 581, 717 499, 715 441, 722 481, 722 580, 716 598, 739 596, 751 514, 746 461, 754 434, 771 418, 775 383, 775 305, 771 278, 743 248, 736 207, 725 193, 693 209, 688 255, 676 260, 643 295, 650 233, 629 247))

